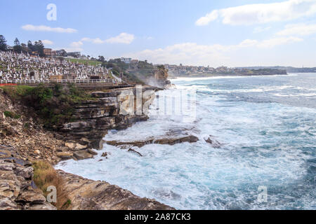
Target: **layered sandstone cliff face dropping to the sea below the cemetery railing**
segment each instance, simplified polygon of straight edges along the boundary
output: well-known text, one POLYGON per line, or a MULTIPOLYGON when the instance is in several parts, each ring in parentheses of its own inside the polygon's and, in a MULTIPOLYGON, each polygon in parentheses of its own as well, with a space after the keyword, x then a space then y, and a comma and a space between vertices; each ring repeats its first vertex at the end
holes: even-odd
MULTIPOLYGON (((146 91, 148 89, 143 89, 146 91)), ((112 92, 93 92, 98 99, 81 102, 75 106, 74 118, 76 122, 67 123, 59 127, 58 131, 66 141, 82 138, 90 142, 88 147, 101 149, 103 137, 107 130, 122 130, 131 127, 136 122, 145 121, 145 113, 136 114, 137 106, 150 106, 154 99, 152 94, 143 96, 141 105, 136 104, 136 89, 116 90, 112 92), (125 91, 125 92, 124 92, 125 91)), ((143 111, 144 112, 144 111, 143 111)))

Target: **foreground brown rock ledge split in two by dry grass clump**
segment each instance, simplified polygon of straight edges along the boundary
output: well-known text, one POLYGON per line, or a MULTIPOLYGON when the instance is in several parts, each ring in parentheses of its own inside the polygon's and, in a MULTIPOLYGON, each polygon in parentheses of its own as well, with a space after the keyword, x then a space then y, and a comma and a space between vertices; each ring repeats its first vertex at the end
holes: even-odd
MULTIPOLYGON (((68 210, 171 210, 155 200, 138 197, 130 191, 104 181, 57 171, 67 197, 68 210)), ((20 157, 14 148, 0 147, 0 210, 56 210, 46 202, 33 181, 32 163, 20 157)))

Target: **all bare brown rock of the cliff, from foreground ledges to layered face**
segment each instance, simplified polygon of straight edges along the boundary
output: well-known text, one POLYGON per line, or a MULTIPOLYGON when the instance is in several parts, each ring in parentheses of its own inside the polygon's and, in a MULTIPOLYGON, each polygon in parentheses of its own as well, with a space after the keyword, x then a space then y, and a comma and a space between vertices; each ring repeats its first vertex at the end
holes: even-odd
MULTIPOLYGON (((75 105, 73 116, 77 121, 60 125, 58 132, 45 130, 32 109, 13 103, 0 91, 0 210, 56 209, 46 202, 34 183, 33 162, 45 160, 55 164, 60 160, 93 157, 95 152, 91 148, 102 147, 107 130, 124 129, 147 120, 145 111, 131 113, 138 106, 146 110, 151 104, 154 89, 143 88, 143 92, 147 90, 151 94, 143 94, 140 105, 133 97, 135 88, 93 92, 93 99, 75 105)), ((173 209, 104 181, 91 181, 62 171, 58 171, 58 176, 70 199, 67 209, 173 209)))

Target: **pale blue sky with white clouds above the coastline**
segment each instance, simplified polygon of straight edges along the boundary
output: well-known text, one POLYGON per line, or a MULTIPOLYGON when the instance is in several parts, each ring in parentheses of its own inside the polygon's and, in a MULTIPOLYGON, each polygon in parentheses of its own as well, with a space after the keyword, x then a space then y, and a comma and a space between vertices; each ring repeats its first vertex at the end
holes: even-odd
POLYGON ((316 66, 316 0, 1 0, 9 45, 195 66, 316 66))

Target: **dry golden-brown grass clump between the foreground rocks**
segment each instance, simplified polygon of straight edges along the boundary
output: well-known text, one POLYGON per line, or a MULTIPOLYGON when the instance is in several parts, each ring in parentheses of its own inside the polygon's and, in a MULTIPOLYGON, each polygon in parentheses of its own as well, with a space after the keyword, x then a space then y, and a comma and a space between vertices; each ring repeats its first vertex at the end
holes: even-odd
POLYGON ((58 176, 55 169, 48 163, 44 161, 34 162, 34 183, 39 189, 41 189, 47 197, 48 193, 47 188, 49 186, 55 186, 57 189, 57 202, 53 203, 58 209, 67 209, 70 205, 70 200, 65 191, 64 182, 61 177, 58 176))

